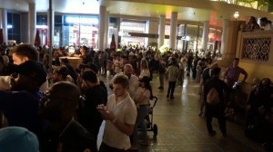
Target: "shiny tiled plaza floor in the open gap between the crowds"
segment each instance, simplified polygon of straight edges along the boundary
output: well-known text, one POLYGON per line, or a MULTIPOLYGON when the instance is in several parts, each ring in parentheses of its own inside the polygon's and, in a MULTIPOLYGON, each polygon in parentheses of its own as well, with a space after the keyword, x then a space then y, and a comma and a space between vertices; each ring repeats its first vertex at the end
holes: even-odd
POLYGON ((149 146, 139 146, 139 152, 262 152, 260 144, 245 138, 242 126, 227 121, 227 138, 223 138, 217 119, 213 127, 217 136, 209 137, 205 119, 198 117, 198 84, 185 80, 177 86, 175 99, 167 100, 165 90, 158 90, 157 76, 152 82, 154 95, 158 97, 154 109, 154 123, 158 127, 157 138, 149 131, 149 146))

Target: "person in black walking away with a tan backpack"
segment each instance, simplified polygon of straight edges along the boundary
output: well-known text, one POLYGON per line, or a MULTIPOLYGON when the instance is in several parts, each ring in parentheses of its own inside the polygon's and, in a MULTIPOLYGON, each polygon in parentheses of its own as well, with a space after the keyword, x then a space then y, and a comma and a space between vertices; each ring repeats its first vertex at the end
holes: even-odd
POLYGON ((204 100, 205 100, 205 116, 207 121, 207 132, 209 136, 215 136, 216 131, 213 130, 211 121, 212 118, 218 119, 219 128, 223 137, 227 137, 225 109, 226 103, 224 100, 224 90, 229 92, 229 87, 219 79, 220 68, 214 68, 211 71, 212 78, 207 80, 204 85, 204 100))

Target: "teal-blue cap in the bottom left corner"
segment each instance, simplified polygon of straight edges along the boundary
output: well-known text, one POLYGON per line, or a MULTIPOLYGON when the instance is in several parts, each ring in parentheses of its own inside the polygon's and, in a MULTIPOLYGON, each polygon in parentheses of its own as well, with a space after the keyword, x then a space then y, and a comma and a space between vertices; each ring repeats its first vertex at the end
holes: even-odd
POLYGON ((35 134, 26 128, 21 127, 1 128, 0 151, 38 152, 39 142, 35 134))

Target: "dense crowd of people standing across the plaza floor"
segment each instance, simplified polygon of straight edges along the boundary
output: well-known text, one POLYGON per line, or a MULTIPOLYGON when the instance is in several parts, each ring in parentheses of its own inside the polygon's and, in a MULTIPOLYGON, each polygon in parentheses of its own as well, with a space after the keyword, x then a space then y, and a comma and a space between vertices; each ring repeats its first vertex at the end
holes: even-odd
MULTIPOLYGON (((199 52, 159 52, 139 46, 123 47, 121 52, 95 52, 82 46, 75 53, 58 48, 49 61, 45 48, 20 44, 10 50, 2 49, 0 56, 0 111, 5 116, 0 126, 33 132, 41 152, 125 151, 137 143, 148 145, 145 118, 151 110, 149 100, 154 95, 150 83, 156 81, 155 72, 158 90, 164 90, 164 81, 168 82, 168 100, 175 99, 175 88, 183 85, 184 75, 199 82, 199 116, 206 117, 207 133, 216 134, 211 125, 215 117, 227 137, 230 94, 240 74, 243 81, 248 79, 247 71, 238 67, 238 58, 221 75, 215 54, 209 52, 201 56, 199 52), (66 58, 59 58, 72 55, 83 59, 76 69, 66 58), (109 86, 100 80, 107 71, 113 76, 109 86), (108 95, 108 90, 113 94, 108 95), (97 148, 103 120, 103 140, 97 148)), ((272 112, 272 83, 264 79, 250 93, 247 125, 257 117, 272 125, 272 112)))

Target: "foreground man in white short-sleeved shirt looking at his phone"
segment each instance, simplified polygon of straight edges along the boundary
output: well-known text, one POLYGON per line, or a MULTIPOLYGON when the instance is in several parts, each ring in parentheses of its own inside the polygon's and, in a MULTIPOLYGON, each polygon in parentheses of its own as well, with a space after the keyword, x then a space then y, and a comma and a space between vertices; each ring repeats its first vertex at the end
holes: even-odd
POLYGON ((96 108, 106 120, 99 152, 124 152, 131 147, 129 136, 133 133, 137 112, 128 86, 127 77, 117 75, 113 81, 114 94, 108 98, 106 106, 96 108))

